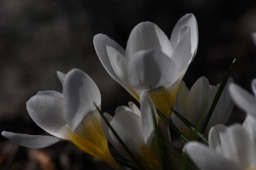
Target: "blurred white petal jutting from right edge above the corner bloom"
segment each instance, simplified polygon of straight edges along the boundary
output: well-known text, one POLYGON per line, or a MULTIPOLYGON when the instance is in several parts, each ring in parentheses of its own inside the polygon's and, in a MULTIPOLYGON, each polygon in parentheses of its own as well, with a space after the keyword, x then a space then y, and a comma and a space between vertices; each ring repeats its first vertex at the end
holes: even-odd
POLYGON ((229 94, 238 107, 256 116, 256 99, 253 95, 235 83, 230 83, 229 94))

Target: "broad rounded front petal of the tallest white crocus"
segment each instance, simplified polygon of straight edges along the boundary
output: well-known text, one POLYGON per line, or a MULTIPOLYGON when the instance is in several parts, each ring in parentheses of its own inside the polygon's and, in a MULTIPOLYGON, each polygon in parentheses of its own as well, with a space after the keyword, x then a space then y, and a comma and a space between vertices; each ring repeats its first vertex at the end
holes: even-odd
POLYGON ((180 78, 180 72, 168 56, 158 51, 140 51, 128 64, 131 86, 138 90, 169 87, 180 78))

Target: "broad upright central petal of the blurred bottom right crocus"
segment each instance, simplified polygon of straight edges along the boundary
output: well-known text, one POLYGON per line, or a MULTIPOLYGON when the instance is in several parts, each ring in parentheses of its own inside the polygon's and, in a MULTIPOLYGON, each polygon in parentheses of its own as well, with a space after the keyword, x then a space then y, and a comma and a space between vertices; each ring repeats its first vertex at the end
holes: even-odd
POLYGON ((240 124, 234 124, 226 129, 221 136, 223 155, 248 169, 255 161, 255 143, 253 137, 240 124))

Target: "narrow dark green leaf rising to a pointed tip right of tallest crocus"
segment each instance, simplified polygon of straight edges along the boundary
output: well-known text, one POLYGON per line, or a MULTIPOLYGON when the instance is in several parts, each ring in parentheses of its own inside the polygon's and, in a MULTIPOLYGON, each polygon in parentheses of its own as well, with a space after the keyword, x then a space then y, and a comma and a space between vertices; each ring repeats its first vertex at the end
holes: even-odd
POLYGON ((216 95, 215 95, 215 97, 214 97, 214 99, 212 101, 210 110, 209 110, 209 112, 207 114, 206 119, 204 120, 204 124, 203 124, 202 130, 201 130, 202 134, 206 130, 206 127, 208 125, 208 122, 210 121, 212 112, 214 111, 214 109, 215 109, 215 107, 216 107, 216 105, 217 105, 217 103, 219 101, 219 98, 221 97, 222 91, 224 90, 224 87, 226 86, 227 80, 229 79, 229 76, 231 74, 231 71, 232 71, 232 69, 234 67, 235 62, 236 62, 236 59, 234 59, 234 61, 231 63, 231 65, 230 65, 229 69, 227 70, 227 72, 226 72, 226 74, 225 74, 225 76, 224 76, 224 78, 223 78, 223 80, 221 82, 221 85, 219 86, 218 91, 217 91, 217 93, 216 93, 216 95))

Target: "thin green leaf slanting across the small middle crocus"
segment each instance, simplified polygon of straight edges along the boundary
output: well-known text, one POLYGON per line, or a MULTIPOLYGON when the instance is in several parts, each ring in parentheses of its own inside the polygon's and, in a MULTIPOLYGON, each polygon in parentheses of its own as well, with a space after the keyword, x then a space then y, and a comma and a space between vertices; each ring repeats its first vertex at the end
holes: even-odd
POLYGON ((97 107, 97 105, 94 103, 95 107, 97 108, 98 112, 101 114, 103 120, 105 123, 108 125, 109 129, 112 131, 112 133, 115 135, 117 138, 118 142, 123 146, 124 150, 128 153, 129 157, 132 159, 132 162, 135 164, 135 166, 139 170, 144 170, 144 167, 140 164, 140 162, 136 159, 136 157, 132 154, 132 152, 129 150, 129 148, 125 145, 125 143, 122 141, 122 139, 119 137, 119 135, 116 133, 114 128, 111 126, 111 124, 108 122, 106 117, 102 114, 101 110, 97 107))

